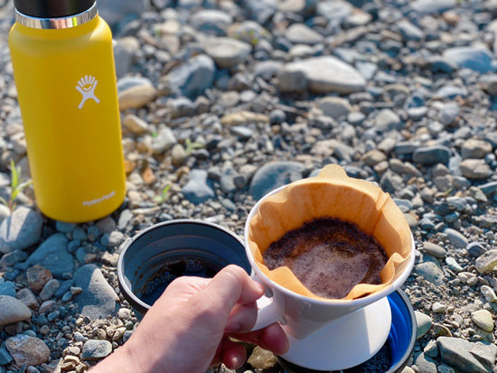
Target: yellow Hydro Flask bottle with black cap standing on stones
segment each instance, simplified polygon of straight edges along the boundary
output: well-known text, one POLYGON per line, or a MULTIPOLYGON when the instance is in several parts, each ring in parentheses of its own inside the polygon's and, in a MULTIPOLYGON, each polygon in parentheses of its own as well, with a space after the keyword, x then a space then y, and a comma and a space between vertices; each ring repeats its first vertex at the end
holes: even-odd
POLYGON ((95 0, 14 0, 9 34, 34 194, 52 219, 102 218, 125 196, 112 35, 95 0))

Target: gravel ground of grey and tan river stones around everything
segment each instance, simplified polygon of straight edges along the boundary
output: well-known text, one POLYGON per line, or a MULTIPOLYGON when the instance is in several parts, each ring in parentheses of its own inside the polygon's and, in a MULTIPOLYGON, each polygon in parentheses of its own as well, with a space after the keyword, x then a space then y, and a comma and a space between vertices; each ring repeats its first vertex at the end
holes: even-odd
MULTIPOLYGON (((31 188, 14 212, 0 206, 0 373, 85 371, 129 338, 137 320, 116 264, 139 230, 192 218, 241 236, 256 200, 328 163, 389 191, 416 239, 403 289, 417 343, 404 373, 497 371, 497 1, 99 5, 116 41, 127 199, 78 225, 43 217, 31 188)), ((9 3, 7 198, 11 160, 30 177, 12 22, 9 3)), ((239 372, 256 371, 282 369, 256 349, 239 372)))

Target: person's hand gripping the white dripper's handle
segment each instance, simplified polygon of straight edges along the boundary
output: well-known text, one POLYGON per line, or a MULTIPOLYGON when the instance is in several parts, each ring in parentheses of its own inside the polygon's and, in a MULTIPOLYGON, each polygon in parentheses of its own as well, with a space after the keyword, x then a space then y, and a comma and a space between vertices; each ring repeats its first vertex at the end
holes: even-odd
POLYGON ((238 266, 227 266, 212 279, 180 277, 169 284, 127 343, 92 372, 204 373, 220 362, 239 368, 247 359, 246 350, 229 337, 285 353, 288 340, 279 324, 249 331, 262 294, 262 286, 238 266))

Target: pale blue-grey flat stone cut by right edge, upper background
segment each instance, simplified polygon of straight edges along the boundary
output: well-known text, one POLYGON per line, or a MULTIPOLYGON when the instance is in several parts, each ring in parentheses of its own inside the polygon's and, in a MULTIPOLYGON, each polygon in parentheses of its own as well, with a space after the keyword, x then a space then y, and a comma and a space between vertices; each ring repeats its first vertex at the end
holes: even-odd
POLYGON ((478 72, 492 71, 492 53, 483 47, 456 47, 444 51, 444 58, 459 67, 478 72))

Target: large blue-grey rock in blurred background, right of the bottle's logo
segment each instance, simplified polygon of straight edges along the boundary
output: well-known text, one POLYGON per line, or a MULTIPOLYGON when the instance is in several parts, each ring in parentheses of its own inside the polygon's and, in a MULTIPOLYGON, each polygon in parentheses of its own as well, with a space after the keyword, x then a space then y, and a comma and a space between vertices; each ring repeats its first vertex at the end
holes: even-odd
POLYGON ((215 73, 214 61, 211 57, 201 54, 171 70, 163 80, 172 93, 192 98, 211 88, 215 73))

